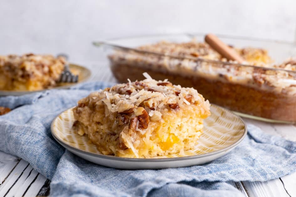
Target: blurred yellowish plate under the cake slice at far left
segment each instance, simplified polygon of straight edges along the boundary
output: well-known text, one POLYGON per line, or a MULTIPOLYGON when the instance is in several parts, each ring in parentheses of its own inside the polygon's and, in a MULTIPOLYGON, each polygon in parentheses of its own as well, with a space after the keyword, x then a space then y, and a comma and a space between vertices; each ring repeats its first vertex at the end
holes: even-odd
POLYGON ((42 92, 49 89, 66 89, 74 86, 78 83, 84 82, 91 77, 91 71, 83 66, 69 64, 70 70, 75 70, 75 73, 78 73, 78 82, 77 83, 60 83, 57 87, 47 88, 44 90, 35 90, 35 91, 12 91, 12 90, 0 90, 0 96, 20 96, 23 94, 42 92))

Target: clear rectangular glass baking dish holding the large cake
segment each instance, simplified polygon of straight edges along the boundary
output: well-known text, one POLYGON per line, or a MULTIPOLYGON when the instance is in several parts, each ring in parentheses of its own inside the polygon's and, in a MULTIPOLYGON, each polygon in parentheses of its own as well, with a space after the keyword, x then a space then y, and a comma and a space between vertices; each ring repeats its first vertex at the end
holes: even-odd
MULTIPOLYGON (((241 116, 272 122, 296 122, 296 72, 201 58, 178 57, 138 50, 159 41, 188 42, 201 34, 155 35, 95 42, 106 52, 110 68, 119 82, 144 79, 147 72, 156 80, 194 87, 205 99, 241 116)), ((219 36, 235 47, 266 49, 275 63, 296 56, 296 46, 269 40, 219 36)))

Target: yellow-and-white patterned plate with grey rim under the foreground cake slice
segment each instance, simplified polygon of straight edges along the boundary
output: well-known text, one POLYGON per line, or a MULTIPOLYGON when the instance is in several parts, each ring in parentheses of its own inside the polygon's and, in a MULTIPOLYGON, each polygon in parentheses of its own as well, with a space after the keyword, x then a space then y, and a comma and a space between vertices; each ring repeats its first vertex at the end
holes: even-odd
POLYGON ((193 149, 182 154, 149 159, 123 158, 101 154, 87 136, 72 130, 72 109, 58 115, 51 124, 54 138, 70 152, 96 164, 118 169, 162 169, 200 165, 234 149, 247 135, 244 121, 231 111, 211 105, 211 115, 204 120, 204 132, 193 149))

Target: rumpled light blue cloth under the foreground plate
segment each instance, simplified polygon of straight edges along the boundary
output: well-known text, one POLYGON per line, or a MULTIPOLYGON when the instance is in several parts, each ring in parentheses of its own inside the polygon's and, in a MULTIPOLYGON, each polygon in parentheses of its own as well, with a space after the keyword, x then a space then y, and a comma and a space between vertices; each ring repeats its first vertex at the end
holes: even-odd
POLYGON ((52 196, 240 196, 228 181, 270 180, 296 171, 296 143, 248 125, 243 142, 207 164, 161 170, 118 170, 93 164, 60 146, 50 133, 59 113, 102 82, 0 98, 0 150, 27 160, 51 179, 52 196))

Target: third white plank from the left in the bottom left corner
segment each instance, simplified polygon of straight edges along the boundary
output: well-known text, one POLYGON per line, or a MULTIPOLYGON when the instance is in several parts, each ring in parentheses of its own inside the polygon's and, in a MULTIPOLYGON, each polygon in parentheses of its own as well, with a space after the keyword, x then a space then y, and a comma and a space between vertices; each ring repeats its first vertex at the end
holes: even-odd
POLYGON ((18 180, 14 183, 14 185, 10 188, 9 192, 6 196, 23 196, 25 191, 28 189, 29 185, 36 178, 38 172, 29 165, 18 178, 18 180))

